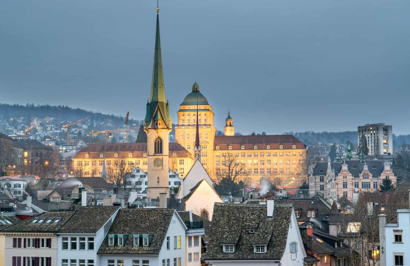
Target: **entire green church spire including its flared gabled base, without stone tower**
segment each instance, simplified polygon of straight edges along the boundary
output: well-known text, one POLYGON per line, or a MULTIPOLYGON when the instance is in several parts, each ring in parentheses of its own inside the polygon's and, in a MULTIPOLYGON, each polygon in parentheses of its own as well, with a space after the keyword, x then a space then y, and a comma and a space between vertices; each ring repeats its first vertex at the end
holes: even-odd
MULTIPOLYGON (((159 9, 157 9, 158 11, 159 9)), ((145 127, 150 127, 153 120, 163 120, 165 126, 171 128, 172 121, 169 115, 169 105, 165 98, 164 73, 162 71, 161 38, 159 36, 159 14, 157 12, 157 27, 155 33, 155 52, 153 79, 151 83, 151 97, 147 103, 147 112, 144 119, 145 127)))

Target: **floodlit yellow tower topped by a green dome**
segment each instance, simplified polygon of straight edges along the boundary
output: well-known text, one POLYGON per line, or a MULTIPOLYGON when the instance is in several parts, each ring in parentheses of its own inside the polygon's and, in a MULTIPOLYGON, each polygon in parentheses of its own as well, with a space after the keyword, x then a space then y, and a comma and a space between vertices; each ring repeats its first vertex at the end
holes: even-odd
MULTIPOLYGON (((214 113, 205 96, 200 93, 198 83, 192 85, 192 91, 184 98, 178 110, 178 125, 175 126, 175 139, 189 151, 194 158, 198 150, 194 150, 196 137, 199 135, 201 163, 205 168, 213 164, 213 147, 216 128, 214 127, 214 113), (198 111, 197 111, 198 107, 198 111), (198 122, 198 133, 196 123, 198 122)), ((193 161, 192 161, 193 162, 193 161)), ((176 165, 171 169, 178 168, 178 174, 185 176, 190 165, 176 165), (181 167, 185 171, 181 173, 181 167)))

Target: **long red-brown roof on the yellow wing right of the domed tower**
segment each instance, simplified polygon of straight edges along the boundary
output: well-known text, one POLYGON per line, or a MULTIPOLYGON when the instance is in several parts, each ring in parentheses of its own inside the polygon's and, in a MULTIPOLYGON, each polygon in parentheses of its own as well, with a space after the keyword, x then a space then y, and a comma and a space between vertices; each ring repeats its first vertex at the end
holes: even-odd
POLYGON ((296 145, 296 149, 306 149, 293 135, 215 136, 214 139, 214 146, 219 146, 219 150, 228 150, 228 145, 235 146, 233 150, 241 149, 241 145, 246 150, 253 150, 253 146, 258 144, 261 144, 258 146, 260 149, 266 149, 266 145, 270 145, 272 150, 279 149, 279 145, 283 145, 283 149, 292 149, 292 145, 296 145))

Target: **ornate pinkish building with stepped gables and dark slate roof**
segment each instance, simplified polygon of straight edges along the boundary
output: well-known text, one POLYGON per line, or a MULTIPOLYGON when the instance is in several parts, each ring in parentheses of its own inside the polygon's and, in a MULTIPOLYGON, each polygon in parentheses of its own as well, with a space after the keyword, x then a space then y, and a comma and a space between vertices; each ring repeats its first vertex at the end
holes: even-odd
POLYGON ((309 193, 310 196, 321 193, 330 201, 342 197, 352 201, 358 193, 378 191, 385 177, 396 186, 397 178, 390 165, 383 161, 364 160, 362 155, 359 160, 336 159, 336 162, 318 163, 314 167, 309 177, 309 193))

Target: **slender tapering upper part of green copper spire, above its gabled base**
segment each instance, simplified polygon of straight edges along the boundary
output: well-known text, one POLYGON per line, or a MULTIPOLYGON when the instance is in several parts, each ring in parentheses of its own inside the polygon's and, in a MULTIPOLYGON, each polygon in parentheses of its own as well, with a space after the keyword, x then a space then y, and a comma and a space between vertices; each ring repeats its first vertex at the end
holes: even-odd
POLYGON ((150 101, 165 102, 164 73, 162 71, 161 38, 159 36, 159 14, 157 8, 157 30, 155 33, 155 52, 153 81, 151 84, 150 101))

